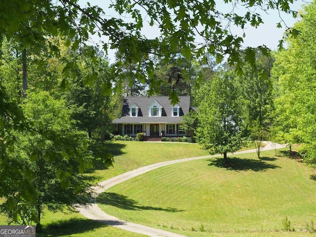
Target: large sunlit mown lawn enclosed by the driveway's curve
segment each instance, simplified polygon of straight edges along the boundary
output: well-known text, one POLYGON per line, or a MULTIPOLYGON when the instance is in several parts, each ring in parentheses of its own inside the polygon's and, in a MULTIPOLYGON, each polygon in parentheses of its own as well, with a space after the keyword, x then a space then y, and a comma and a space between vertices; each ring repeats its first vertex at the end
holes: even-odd
POLYGON ((274 155, 234 156, 229 167, 216 158, 161 167, 111 188, 98 202, 118 218, 188 237, 315 236, 304 232, 316 223, 314 170, 284 152, 274 155), (282 231, 285 217, 295 232, 282 231))

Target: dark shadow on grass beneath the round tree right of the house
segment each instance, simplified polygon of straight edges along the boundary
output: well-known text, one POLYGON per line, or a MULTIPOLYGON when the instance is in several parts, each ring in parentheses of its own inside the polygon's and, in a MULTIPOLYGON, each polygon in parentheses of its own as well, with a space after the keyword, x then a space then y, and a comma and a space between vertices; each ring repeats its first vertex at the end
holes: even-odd
POLYGON ((269 164, 263 160, 258 159, 241 159, 237 157, 229 157, 227 158, 228 162, 224 163, 223 158, 215 158, 209 159, 209 166, 216 166, 219 168, 226 168, 228 170, 235 171, 266 171, 267 169, 276 169, 280 168, 280 166, 275 164, 269 164))

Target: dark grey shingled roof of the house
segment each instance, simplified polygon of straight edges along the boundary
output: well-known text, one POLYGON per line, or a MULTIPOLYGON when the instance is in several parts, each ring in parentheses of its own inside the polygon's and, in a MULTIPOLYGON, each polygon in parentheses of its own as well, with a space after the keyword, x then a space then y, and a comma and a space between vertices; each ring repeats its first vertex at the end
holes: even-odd
POLYGON ((171 100, 168 96, 127 96, 124 97, 122 115, 116 118, 112 123, 178 123, 182 121, 182 115, 185 115, 190 110, 190 96, 179 96, 180 116, 172 117, 171 100), (156 101, 162 107, 161 117, 149 117, 149 107, 156 101), (130 117, 129 107, 136 104, 138 109, 137 117, 130 117))

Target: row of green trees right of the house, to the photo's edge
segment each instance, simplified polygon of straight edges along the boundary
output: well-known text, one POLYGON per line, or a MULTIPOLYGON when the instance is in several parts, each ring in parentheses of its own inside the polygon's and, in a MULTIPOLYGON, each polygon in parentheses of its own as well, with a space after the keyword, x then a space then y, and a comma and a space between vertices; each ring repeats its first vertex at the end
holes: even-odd
POLYGON ((228 152, 250 140, 260 158, 261 141, 272 140, 288 144, 290 153, 299 144, 298 153, 315 168, 315 2, 300 17, 287 48, 269 56, 257 51, 256 63, 243 64, 241 75, 224 65, 201 86, 198 114, 185 117, 185 127, 211 154, 224 154, 227 162, 228 152))

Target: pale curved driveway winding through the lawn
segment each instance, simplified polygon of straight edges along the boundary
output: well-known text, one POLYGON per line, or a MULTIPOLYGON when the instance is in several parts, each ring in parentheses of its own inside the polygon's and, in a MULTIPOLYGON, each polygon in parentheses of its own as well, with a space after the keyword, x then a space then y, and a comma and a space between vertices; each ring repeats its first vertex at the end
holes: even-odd
MULTIPOLYGON (((263 147, 261 149, 261 151, 269 151, 269 150, 280 149, 280 148, 286 147, 286 145, 274 144, 272 142, 267 142, 267 141, 265 141, 264 143, 266 143, 266 146, 263 147)), ((245 153, 253 153, 253 152, 256 152, 256 150, 252 149, 252 150, 247 150, 247 151, 229 153, 227 155, 233 155, 233 154, 237 155, 237 154, 245 154, 245 153)), ((218 157, 218 156, 219 155, 176 159, 176 160, 164 161, 164 162, 159 162, 156 164, 147 165, 147 166, 144 166, 144 167, 141 167, 138 169, 128 171, 124 174, 120 174, 120 175, 113 177, 111 179, 105 180, 105 181, 99 183, 97 186, 93 187, 93 190, 97 196, 97 195, 103 193, 104 191, 106 191, 107 189, 109 189, 109 188, 111 188, 119 183, 122 183, 128 179, 134 178, 138 175, 144 174, 148 171, 157 169, 157 168, 162 167, 162 166, 180 163, 180 162, 189 161, 189 160, 205 159, 205 158, 212 158, 212 157, 218 157)), ((151 236, 151 237, 185 237, 185 236, 182 236, 179 234, 174 234, 174 233, 163 231, 160 229, 155 229, 152 227, 143 226, 140 224, 135 224, 135 223, 131 223, 128 221, 119 220, 118 218, 116 218, 114 216, 106 214, 103 210, 101 210, 98 207, 98 205, 95 203, 95 201, 93 201, 93 202, 94 203, 91 203, 91 205, 88 205, 86 207, 77 208, 83 216, 85 216, 91 220, 95 220, 95 221, 104 223, 106 225, 117 227, 117 228, 125 230, 125 231, 135 232, 135 233, 139 233, 139 234, 143 234, 143 235, 147 235, 147 236, 151 236)))

